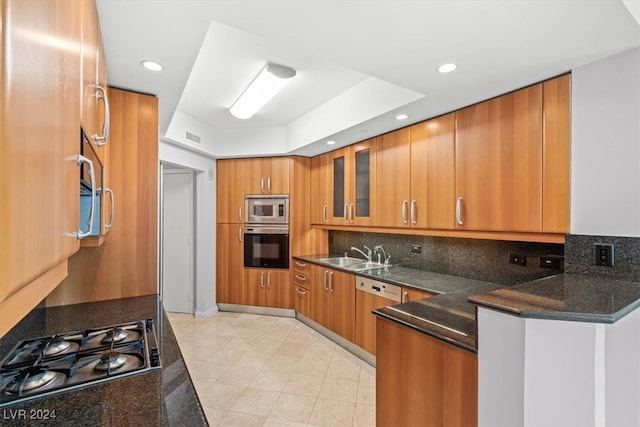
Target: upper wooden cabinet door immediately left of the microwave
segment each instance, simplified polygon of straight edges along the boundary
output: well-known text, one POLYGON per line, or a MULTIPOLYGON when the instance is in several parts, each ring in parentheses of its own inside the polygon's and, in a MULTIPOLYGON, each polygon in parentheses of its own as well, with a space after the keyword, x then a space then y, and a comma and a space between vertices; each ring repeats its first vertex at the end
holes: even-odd
POLYGON ((217 170, 217 222, 240 224, 244 222, 244 160, 216 161, 217 170))

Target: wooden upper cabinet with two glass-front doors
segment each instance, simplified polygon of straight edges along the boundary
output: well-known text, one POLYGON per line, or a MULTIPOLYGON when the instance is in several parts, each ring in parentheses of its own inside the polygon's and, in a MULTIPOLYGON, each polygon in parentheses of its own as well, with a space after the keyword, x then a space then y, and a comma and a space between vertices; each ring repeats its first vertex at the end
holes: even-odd
POLYGON ((331 203, 329 223, 371 225, 376 189, 376 139, 329 153, 331 203))

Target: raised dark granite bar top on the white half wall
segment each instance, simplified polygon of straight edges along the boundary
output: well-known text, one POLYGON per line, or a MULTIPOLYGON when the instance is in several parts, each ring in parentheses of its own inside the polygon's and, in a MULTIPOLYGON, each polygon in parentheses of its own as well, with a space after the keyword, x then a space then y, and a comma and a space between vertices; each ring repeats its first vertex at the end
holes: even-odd
POLYGON ((469 301, 525 318, 614 323, 640 306, 640 283, 558 274, 472 295, 469 301))

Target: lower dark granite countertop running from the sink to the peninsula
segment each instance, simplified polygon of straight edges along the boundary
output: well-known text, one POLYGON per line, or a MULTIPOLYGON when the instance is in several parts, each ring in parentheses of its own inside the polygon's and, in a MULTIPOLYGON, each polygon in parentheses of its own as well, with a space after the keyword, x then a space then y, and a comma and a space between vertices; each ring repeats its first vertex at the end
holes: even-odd
POLYGON ((503 287, 494 283, 433 273, 401 265, 354 272, 348 268, 340 268, 321 261, 330 256, 320 254, 295 256, 294 258, 394 285, 409 286, 437 294, 420 301, 382 307, 373 312, 380 317, 398 322, 474 353, 477 351, 476 307, 467 300, 470 295, 503 287))

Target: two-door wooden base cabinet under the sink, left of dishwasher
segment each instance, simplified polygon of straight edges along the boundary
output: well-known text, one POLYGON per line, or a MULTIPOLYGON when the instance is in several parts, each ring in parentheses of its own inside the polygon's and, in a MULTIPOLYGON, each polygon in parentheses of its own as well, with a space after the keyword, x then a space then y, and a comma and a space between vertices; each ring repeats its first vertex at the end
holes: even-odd
POLYGON ((312 272, 312 320, 355 341, 355 276, 317 265, 312 272))

